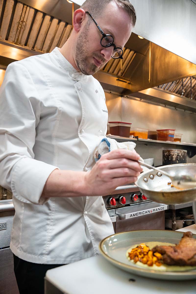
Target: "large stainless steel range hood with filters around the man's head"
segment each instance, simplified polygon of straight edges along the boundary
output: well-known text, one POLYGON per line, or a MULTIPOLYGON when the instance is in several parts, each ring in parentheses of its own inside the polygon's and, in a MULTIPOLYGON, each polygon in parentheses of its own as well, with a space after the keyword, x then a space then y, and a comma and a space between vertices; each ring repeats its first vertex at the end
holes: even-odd
MULTIPOLYGON (((182 45, 183 48, 187 44, 190 46, 191 42, 190 47, 195 48, 196 52, 196 18, 192 17, 196 15, 196 4, 191 0, 131 2, 137 11, 137 22, 134 33, 124 48, 123 73, 120 73, 119 60, 111 59, 103 70, 95 75, 103 88, 128 96, 147 88, 196 75, 195 54, 191 55, 190 50, 184 50, 184 54, 178 51, 182 45), (192 23, 188 23, 183 17, 187 9, 192 23), (186 35, 182 26, 187 30, 186 35), (176 43, 176 36, 173 35, 176 46, 172 45, 171 31, 178 36, 179 42, 176 43), (138 34, 145 38, 139 39, 138 34), (171 49, 167 48, 168 44, 172 45, 171 49)), ((79 6, 75 4, 75 9, 77 8, 79 6)), ((55 46, 61 47, 71 33, 71 9, 72 5, 66 0, 1 0, 0 67, 6 68, 14 60, 50 52, 55 46)))

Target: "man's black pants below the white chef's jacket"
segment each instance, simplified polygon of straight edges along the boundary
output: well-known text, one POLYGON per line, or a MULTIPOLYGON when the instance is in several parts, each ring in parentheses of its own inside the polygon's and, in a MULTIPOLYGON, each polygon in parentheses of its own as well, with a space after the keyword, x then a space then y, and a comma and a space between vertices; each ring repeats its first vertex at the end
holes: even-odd
POLYGON ((14 255, 14 273, 20 294, 44 294, 46 271, 61 265, 32 263, 14 255))

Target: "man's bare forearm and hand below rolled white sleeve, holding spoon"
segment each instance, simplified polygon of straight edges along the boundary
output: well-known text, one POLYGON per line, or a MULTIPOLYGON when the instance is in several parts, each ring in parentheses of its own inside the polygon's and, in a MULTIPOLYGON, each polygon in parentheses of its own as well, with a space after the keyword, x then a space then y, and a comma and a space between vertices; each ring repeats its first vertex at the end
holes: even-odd
POLYGON ((133 183, 143 169, 134 151, 117 149, 101 156, 90 172, 55 169, 41 197, 104 196, 121 185, 133 183))

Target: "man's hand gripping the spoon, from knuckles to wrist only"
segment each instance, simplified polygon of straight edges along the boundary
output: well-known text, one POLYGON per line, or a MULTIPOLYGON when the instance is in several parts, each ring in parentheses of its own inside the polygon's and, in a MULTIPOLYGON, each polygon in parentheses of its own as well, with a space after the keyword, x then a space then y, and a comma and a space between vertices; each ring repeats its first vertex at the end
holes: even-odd
POLYGON ((133 183, 143 171, 135 151, 117 149, 101 156, 92 170, 86 173, 86 195, 108 195, 118 186, 133 183))

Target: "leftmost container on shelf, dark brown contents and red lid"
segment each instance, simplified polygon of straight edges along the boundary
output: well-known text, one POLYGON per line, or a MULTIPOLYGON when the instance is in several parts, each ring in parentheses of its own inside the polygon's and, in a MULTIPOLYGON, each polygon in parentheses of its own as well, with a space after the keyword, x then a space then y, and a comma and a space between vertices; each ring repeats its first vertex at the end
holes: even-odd
POLYGON ((109 124, 111 135, 129 138, 131 123, 123 123, 122 121, 109 121, 109 124))

